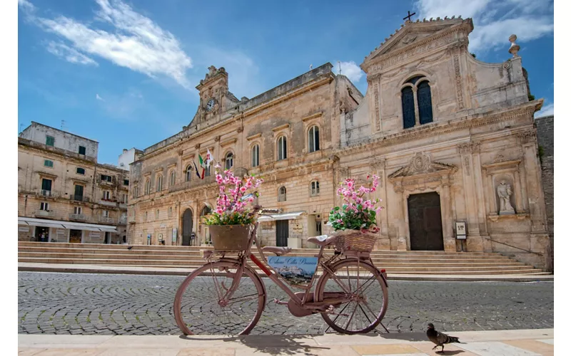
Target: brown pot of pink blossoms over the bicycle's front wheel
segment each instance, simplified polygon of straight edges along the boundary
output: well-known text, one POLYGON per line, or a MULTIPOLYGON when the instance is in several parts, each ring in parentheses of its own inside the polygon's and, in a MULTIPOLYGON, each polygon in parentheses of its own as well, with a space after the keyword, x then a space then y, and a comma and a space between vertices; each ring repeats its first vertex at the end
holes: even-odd
POLYGON ((248 249, 254 222, 254 214, 246 207, 254 200, 254 196, 244 199, 244 194, 249 189, 259 187, 263 179, 248 175, 235 177, 230 170, 220 174, 219 167, 216 164, 216 183, 219 189, 216 208, 205 217, 205 224, 209 226, 215 250, 244 251, 248 249))

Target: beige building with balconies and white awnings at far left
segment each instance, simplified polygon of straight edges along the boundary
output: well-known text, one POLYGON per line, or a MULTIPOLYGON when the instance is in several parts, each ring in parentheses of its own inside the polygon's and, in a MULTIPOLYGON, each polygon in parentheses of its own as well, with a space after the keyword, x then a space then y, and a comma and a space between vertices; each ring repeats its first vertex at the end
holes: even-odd
POLYGON ((19 241, 126 239, 128 171, 98 164, 97 153, 98 142, 37 122, 21 132, 19 241))

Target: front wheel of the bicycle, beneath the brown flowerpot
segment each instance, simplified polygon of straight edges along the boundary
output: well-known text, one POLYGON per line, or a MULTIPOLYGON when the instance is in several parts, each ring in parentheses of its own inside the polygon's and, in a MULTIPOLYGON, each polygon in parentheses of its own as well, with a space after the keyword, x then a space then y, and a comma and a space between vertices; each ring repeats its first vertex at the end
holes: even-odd
POLYGON ((176 325, 184 335, 248 335, 266 305, 266 289, 248 266, 236 291, 223 302, 238 261, 206 263, 181 283, 174 299, 176 325))

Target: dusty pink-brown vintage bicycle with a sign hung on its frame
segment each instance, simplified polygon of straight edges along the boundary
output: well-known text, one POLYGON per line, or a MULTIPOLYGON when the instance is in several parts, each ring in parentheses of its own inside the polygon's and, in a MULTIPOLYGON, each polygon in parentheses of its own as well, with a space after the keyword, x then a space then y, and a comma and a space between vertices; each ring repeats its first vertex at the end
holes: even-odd
MULTIPOLYGON (((262 210, 261 206, 254 206, 253 211, 255 214, 278 212, 262 210)), ((248 265, 248 258, 290 296, 288 301, 275 299, 274 302, 288 305, 292 315, 303 317, 320 313, 330 328, 345 334, 369 333, 379 324, 385 328, 380 322, 388 307, 387 277, 385 270, 379 271, 373 265, 370 253, 338 251, 335 248, 333 256, 325 258, 325 248, 334 246, 336 237, 310 237, 308 242, 320 246, 318 255, 304 258, 292 267, 303 270, 307 264, 307 273, 288 274, 284 273, 284 268, 278 268, 279 272, 276 272, 276 268, 271 266, 272 260, 277 266, 291 248, 261 248, 256 241, 257 230, 258 221, 250 233, 248 249, 239 251, 236 258, 226 257, 228 251, 203 251, 206 263, 185 278, 174 300, 176 324, 184 335, 213 334, 221 327, 229 335, 248 335, 256 326, 266 307, 266 287, 256 270, 248 265), (254 242, 264 263, 251 253, 254 242), (264 252, 275 253, 276 256, 271 256, 268 263, 264 252), (221 257, 215 260, 218 255, 221 257), (311 274, 313 265, 315 268, 311 274), (318 278, 319 268, 322 273, 318 278), (316 278, 317 284, 312 292, 316 278), (294 293, 292 288, 304 291, 294 293), (349 305, 351 307, 345 313, 349 305), (364 318, 360 320, 358 317, 364 318)), ((285 267, 286 270, 288 268, 285 267)))

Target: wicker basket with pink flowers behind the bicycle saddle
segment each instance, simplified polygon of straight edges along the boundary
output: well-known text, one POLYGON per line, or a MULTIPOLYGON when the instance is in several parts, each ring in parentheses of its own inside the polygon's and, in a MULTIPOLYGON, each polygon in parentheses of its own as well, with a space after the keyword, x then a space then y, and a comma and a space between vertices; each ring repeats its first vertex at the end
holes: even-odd
MULTIPOLYGON (((338 236, 336 248, 343 251, 368 251, 375 245, 379 228, 376 224, 377 212, 382 206, 375 207, 380 199, 367 199, 366 195, 377 190, 379 177, 373 175, 370 188, 360 186, 355 189, 355 179, 345 179, 337 189, 337 195, 343 197, 343 206, 335 206, 329 221, 338 236)), ((367 175, 367 180, 371 178, 367 175)))

